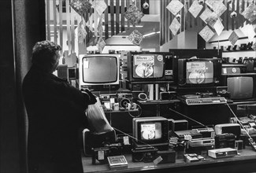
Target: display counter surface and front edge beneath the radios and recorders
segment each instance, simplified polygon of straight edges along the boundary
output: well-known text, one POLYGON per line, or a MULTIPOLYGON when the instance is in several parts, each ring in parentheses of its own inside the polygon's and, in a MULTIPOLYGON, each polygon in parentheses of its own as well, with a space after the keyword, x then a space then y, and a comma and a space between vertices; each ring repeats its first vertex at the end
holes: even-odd
MULTIPOLYGON (((82 153, 83 155, 83 153, 82 153)), ((185 163, 183 153, 176 153, 176 163, 172 164, 154 164, 143 162, 132 162, 132 155, 124 155, 128 161, 128 168, 112 171, 109 170, 108 164, 94 165, 91 164, 91 157, 82 156, 83 172, 254 172, 256 171, 256 152, 250 146, 239 151, 239 155, 221 159, 213 159, 210 156, 204 156, 206 160, 194 163, 185 163)))

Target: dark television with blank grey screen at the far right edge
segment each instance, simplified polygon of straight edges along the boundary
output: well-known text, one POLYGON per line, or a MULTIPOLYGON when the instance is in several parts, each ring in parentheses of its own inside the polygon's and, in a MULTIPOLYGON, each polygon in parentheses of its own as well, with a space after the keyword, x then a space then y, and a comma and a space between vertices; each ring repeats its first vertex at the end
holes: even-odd
POLYGON ((234 102, 256 101, 256 73, 222 74, 221 85, 228 86, 234 102))

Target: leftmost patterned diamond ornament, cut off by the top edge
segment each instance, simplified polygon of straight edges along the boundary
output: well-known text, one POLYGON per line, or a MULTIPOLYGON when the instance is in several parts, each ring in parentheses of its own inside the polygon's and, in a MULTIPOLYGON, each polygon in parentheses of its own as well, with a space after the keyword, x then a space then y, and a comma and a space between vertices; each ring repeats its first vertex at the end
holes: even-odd
POLYGON ((87 0, 72 0, 72 2, 70 2, 70 6, 76 11, 76 13, 83 16, 83 13, 87 12, 87 10, 91 8, 91 3, 87 0))

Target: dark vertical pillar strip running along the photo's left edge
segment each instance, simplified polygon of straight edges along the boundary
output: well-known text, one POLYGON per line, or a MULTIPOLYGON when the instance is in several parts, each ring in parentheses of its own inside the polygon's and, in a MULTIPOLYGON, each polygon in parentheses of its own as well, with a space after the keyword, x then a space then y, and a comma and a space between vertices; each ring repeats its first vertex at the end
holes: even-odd
POLYGON ((0 1, 0 172, 19 172, 12 1, 0 1))

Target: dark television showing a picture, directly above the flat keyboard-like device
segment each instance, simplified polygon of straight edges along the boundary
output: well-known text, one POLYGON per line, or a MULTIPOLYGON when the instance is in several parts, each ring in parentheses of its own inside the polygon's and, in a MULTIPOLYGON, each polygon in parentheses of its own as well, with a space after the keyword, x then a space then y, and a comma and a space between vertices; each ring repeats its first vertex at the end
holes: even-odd
POLYGON ((178 86, 219 86, 221 79, 220 58, 175 58, 173 72, 178 86))

